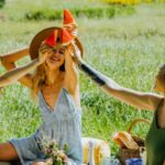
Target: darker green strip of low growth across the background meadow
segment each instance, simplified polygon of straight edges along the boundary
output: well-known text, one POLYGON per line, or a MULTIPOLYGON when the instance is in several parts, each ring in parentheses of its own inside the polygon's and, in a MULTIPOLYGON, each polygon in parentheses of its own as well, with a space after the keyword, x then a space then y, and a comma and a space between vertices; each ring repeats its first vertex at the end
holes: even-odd
MULTIPOLYGON (((98 19, 98 18, 113 18, 116 15, 130 15, 135 12, 134 8, 131 6, 105 6, 105 7, 86 7, 86 8, 73 8, 70 9, 72 13, 77 18, 89 18, 89 19, 98 19)), ((36 9, 35 11, 29 11, 25 13, 24 18, 29 21, 31 20, 62 20, 63 13, 62 9, 36 9)))

